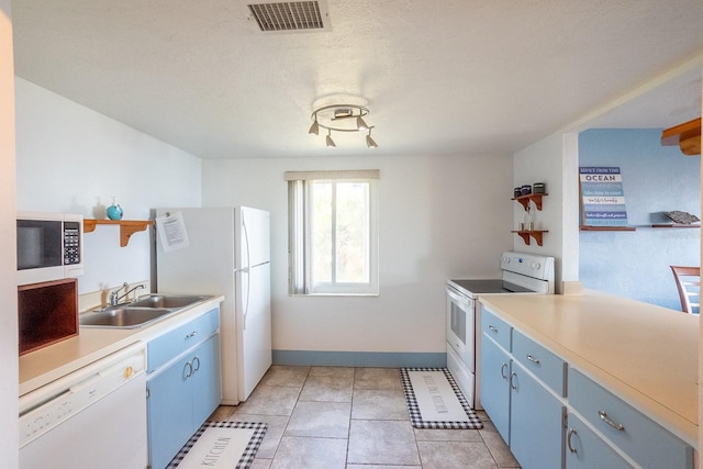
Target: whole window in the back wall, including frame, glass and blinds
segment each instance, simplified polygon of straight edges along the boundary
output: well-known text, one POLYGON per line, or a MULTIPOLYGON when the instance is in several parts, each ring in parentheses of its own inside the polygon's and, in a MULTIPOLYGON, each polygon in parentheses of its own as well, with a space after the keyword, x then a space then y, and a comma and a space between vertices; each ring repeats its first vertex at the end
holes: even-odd
POLYGON ((286 174, 291 294, 378 294, 378 170, 286 174))

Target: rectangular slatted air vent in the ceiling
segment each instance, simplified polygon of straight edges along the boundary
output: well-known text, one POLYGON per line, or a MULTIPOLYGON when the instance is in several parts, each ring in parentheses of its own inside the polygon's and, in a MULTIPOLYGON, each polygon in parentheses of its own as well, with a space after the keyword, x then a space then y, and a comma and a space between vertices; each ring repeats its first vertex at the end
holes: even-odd
POLYGON ((328 29, 323 1, 249 3, 247 5, 264 32, 323 31, 328 29))

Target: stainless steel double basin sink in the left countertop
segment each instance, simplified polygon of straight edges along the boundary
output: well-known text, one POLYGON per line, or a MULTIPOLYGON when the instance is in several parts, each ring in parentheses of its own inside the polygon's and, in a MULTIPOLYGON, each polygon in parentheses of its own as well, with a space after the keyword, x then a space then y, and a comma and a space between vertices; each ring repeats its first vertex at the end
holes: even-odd
POLYGON ((118 306, 109 306, 80 316, 83 327, 136 328, 174 314, 210 297, 150 294, 145 299, 118 306))

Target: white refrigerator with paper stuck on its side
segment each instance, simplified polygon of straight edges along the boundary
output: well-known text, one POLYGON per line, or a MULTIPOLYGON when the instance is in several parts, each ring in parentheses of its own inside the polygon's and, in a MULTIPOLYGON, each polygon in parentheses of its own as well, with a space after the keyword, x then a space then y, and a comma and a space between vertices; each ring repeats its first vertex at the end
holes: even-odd
POLYGON ((236 405, 271 366, 269 213, 246 206, 156 210, 157 221, 166 215, 182 220, 188 241, 165 249, 156 236, 157 291, 225 295, 222 403, 236 405))

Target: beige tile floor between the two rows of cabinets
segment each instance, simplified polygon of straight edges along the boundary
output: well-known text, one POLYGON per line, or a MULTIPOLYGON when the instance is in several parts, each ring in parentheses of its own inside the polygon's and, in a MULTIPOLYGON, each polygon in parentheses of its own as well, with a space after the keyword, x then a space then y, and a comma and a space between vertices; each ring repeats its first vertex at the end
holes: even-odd
POLYGON ((268 423, 254 469, 518 468, 479 415, 482 429, 416 429, 398 369, 274 366, 211 418, 268 423))

